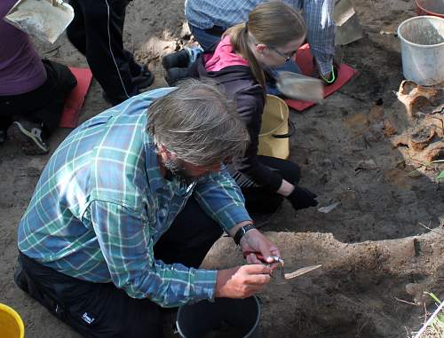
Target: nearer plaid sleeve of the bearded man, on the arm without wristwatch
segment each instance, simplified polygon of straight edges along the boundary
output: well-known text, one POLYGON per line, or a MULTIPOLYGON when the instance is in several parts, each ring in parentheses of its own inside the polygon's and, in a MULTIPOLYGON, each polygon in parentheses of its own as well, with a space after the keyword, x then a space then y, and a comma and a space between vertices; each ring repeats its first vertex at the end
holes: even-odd
POLYGON ((154 224, 121 205, 95 200, 91 224, 116 287, 163 307, 214 299, 217 271, 155 260, 154 224))

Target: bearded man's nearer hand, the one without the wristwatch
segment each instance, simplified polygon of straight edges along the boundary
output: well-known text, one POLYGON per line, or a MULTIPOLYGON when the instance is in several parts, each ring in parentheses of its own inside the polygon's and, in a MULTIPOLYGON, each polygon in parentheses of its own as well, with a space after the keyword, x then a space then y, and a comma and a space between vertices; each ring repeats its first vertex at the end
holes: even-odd
POLYGON ((242 265, 219 270, 216 297, 246 298, 256 294, 270 281, 272 269, 262 264, 242 265))

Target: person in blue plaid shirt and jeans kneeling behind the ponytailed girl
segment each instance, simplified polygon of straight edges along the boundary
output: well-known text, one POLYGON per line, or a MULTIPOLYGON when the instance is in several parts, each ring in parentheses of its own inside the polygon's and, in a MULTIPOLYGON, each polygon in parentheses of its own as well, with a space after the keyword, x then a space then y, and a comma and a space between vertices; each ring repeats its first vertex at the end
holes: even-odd
MULTIPOLYGON (((318 75, 325 84, 337 80, 335 56, 334 0, 282 0, 302 11, 307 26, 307 41, 318 75)), ((185 17, 194 38, 204 51, 218 43, 227 28, 248 20, 250 12, 268 0, 186 0, 185 17)), ((285 27, 285 26, 284 26, 285 27)), ((301 73, 294 58, 278 71, 301 73)), ((273 94, 273 92, 271 92, 273 94)))

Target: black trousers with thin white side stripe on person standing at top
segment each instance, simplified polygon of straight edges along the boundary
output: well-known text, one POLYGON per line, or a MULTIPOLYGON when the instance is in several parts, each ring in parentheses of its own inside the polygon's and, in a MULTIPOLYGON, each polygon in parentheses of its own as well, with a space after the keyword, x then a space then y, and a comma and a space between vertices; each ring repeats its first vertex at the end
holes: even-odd
POLYGON ((107 96, 118 103, 137 95, 131 77, 141 68, 123 49, 123 24, 129 0, 70 0, 75 18, 67 37, 86 57, 92 75, 107 96))

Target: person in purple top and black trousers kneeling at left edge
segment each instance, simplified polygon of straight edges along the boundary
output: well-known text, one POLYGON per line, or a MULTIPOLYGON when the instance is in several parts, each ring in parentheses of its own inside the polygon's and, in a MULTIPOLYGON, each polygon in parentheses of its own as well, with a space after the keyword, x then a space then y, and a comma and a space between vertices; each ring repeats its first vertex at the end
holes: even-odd
POLYGON ((16 2, 0 2, 0 144, 11 130, 25 153, 48 153, 45 139, 77 82, 68 67, 40 59, 28 35, 4 20, 16 2))

